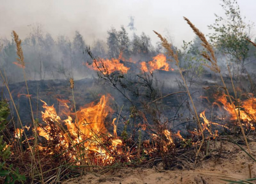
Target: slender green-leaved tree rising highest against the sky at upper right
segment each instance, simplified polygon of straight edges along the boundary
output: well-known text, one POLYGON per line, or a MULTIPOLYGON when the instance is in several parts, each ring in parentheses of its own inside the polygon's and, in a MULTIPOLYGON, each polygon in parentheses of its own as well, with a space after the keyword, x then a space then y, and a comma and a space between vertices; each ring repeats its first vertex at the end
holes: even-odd
MULTIPOLYGON (((242 74, 245 72, 245 61, 248 57, 249 43, 246 38, 249 38, 248 31, 251 25, 245 23, 236 0, 222 1, 221 6, 226 17, 215 14, 215 23, 208 26, 214 31, 209 34, 210 41, 235 64, 236 70, 242 74)), ((234 67, 233 70, 235 70, 234 67)))

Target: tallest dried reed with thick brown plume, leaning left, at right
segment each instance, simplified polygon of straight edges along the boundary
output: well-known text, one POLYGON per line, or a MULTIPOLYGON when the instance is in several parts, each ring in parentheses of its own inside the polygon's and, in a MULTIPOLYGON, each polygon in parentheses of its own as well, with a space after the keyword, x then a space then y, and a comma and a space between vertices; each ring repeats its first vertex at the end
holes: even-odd
MULTIPOLYGON (((215 55, 214 55, 214 51, 213 51, 211 45, 210 45, 210 44, 208 43, 208 41, 206 40, 206 38, 204 37, 204 34, 203 34, 201 31, 199 31, 198 28, 196 28, 195 25, 193 25, 192 22, 190 22, 189 19, 187 19, 186 17, 183 17, 183 18, 187 21, 187 23, 188 23, 189 26, 192 28, 192 30, 194 31, 194 33, 195 33, 195 34, 200 38, 200 40, 203 42, 203 43, 201 43, 201 45, 202 45, 205 49, 207 49, 208 52, 210 52, 210 54, 211 54, 211 56, 208 55, 208 53, 206 53, 206 52, 203 52, 203 53, 201 54, 204 58, 206 58, 208 61, 211 62, 211 66, 209 66, 209 65, 207 65, 207 64, 205 64, 205 66, 206 66, 206 67, 209 67, 209 68, 210 68, 213 72, 215 72, 215 73, 220 73, 220 67, 219 67, 218 64, 217 64, 217 59, 216 59, 216 57, 215 57, 215 55)), ((246 138, 246 135, 245 135, 245 132, 244 132, 244 129, 243 129, 243 126, 242 126, 240 117, 239 117, 239 113, 237 113, 237 111, 236 111, 236 106, 234 105, 234 103, 233 103, 233 101, 232 101, 232 99, 231 99, 231 96, 230 96, 230 94, 229 94, 229 91, 228 91, 228 89, 227 89, 227 87, 226 87, 226 84, 225 84, 225 82, 224 82, 224 79, 223 79, 221 73, 220 73, 220 78, 221 78, 221 81, 222 81, 222 83, 223 83, 223 87, 224 87, 224 89, 225 89, 225 91, 226 91, 226 93, 227 93, 227 96, 228 96, 228 98, 229 98, 229 102, 230 102, 230 104, 232 105, 232 107, 233 107, 233 109, 234 109, 234 111, 235 111, 235 113, 236 113, 236 117, 237 117, 239 126, 241 127, 241 131, 242 131, 242 134, 243 134, 243 136, 244 136, 244 139, 245 139, 245 143, 246 143, 248 152, 251 154, 251 150, 250 150, 250 147, 249 147, 249 144, 248 144, 248 141, 247 141, 247 138, 246 138)), ((233 87, 233 88, 234 88, 234 87, 233 87)), ((234 92, 235 92, 235 91, 234 91, 234 92)))

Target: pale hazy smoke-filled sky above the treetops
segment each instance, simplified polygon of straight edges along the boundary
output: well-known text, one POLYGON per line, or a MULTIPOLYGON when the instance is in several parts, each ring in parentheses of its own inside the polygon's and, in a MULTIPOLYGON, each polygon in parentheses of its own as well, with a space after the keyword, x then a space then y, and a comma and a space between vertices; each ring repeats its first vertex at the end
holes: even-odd
MULTIPOLYGON (((189 18, 204 34, 214 23, 214 13, 223 15, 220 0, 0 0, 0 37, 10 39, 12 30, 25 38, 33 26, 42 25, 53 37, 73 38, 78 30, 87 44, 106 39, 107 30, 120 25, 127 27, 134 17, 136 33, 144 31, 155 43, 152 30, 170 35, 173 44, 192 40, 194 33, 183 20, 189 18)), ((256 22, 256 0, 238 0, 241 14, 256 22)), ((252 31, 255 32, 255 28, 252 31)))

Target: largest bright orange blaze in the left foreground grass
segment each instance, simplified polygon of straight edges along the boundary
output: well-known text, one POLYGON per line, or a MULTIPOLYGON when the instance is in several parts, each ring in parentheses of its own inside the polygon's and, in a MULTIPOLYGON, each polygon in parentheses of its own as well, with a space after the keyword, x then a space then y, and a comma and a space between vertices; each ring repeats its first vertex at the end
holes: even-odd
MULTIPOLYGON (((46 123, 46 126, 40 125, 37 128, 38 134, 44 137, 48 142, 56 141, 58 138, 58 144, 55 146, 55 150, 60 148, 69 149, 74 147, 70 151, 72 154, 70 157, 73 159, 79 159, 75 155, 79 151, 79 147, 73 145, 80 144, 83 146, 85 155, 89 159, 89 155, 95 162, 101 163, 102 165, 111 163, 114 160, 114 155, 122 153, 117 150, 118 147, 122 146, 122 141, 117 138, 116 126, 114 125, 114 137, 105 128, 104 122, 110 111, 108 106, 108 96, 101 96, 99 102, 94 102, 82 107, 79 111, 65 112, 63 114, 70 114, 67 119, 61 120, 57 115, 54 105, 48 105, 43 102, 42 120, 46 123), (73 118, 72 118, 73 117, 73 118), (63 125, 67 127, 67 131, 64 130, 63 125), (106 141, 109 144, 105 145, 106 141), (106 147, 108 149, 106 149, 106 147), (74 152, 74 153, 73 153, 74 152)), ((67 105, 67 101, 63 101, 67 105)), ((47 150, 46 147, 40 147, 40 150, 47 150)), ((51 152, 52 154, 52 152, 51 152)), ((87 161, 86 161, 87 162, 87 161)))

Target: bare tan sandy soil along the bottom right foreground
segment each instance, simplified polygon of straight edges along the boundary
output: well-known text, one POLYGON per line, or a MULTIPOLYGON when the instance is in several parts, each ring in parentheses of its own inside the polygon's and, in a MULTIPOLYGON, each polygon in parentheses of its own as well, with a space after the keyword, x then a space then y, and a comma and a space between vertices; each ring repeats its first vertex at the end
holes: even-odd
MULTIPOLYGON (((256 140, 249 138, 253 156, 256 154, 256 140)), ((221 154, 203 160, 194 169, 165 171, 161 164, 150 168, 125 168, 96 176, 86 174, 64 182, 66 184, 219 184, 229 183, 220 180, 249 178, 248 164, 251 164, 252 177, 256 177, 256 164, 236 144, 222 140, 221 154), (233 177, 233 178, 232 178, 233 177)), ((245 145, 242 145, 246 149, 245 145)), ((214 153, 212 153, 213 155, 214 153)), ((216 154, 217 155, 217 154, 216 154)))

